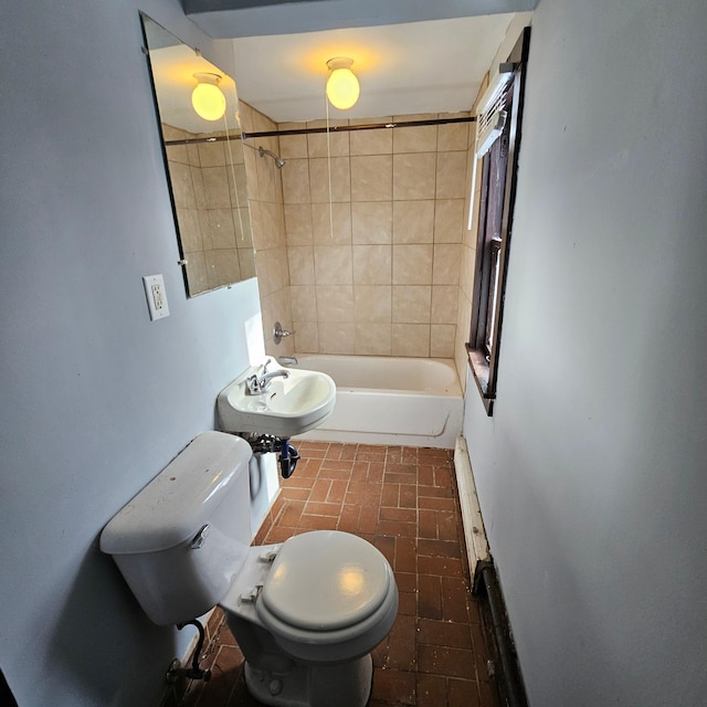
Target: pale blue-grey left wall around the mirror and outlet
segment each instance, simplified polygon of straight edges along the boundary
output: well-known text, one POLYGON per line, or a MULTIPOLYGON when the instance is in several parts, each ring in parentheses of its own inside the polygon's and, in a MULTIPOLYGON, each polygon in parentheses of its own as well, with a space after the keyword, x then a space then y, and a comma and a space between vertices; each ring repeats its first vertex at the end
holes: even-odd
POLYGON ((6 3, 0 23, 0 667, 23 706, 157 704, 189 636, 149 623, 97 538, 247 366, 254 279, 187 300, 138 9, 6 3), (151 324, 141 277, 162 273, 151 324))

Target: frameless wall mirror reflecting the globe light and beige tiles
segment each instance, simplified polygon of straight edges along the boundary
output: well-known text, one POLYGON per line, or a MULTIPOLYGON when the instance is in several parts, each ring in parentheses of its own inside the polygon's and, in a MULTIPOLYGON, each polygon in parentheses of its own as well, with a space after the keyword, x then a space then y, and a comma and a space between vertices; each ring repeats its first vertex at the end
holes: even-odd
POLYGON ((255 277, 235 82, 146 14, 141 20, 181 265, 192 297, 255 277), (208 119, 192 104, 197 85, 215 93, 215 113, 208 119))

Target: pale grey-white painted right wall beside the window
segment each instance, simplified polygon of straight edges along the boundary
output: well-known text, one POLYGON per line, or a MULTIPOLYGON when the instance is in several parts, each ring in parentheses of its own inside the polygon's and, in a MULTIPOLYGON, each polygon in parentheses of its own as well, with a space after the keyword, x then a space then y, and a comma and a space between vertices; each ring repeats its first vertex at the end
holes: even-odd
POLYGON ((530 704, 707 692, 707 3, 541 0, 494 416, 465 435, 530 704))

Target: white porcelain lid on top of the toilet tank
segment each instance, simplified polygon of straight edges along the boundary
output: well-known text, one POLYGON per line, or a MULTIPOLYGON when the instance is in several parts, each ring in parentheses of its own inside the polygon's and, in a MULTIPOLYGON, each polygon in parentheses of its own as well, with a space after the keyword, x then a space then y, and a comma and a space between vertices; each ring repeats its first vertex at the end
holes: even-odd
POLYGON ((202 432, 113 517, 101 534, 101 550, 157 552, 192 538, 247 472, 251 456, 242 437, 202 432))

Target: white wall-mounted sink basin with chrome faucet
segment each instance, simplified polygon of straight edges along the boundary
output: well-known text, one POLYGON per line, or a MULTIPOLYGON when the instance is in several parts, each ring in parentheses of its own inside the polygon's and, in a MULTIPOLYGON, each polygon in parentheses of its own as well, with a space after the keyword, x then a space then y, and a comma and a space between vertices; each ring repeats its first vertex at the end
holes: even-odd
POLYGON ((225 432, 251 432, 292 437, 321 424, 334 410, 336 384, 326 373, 283 368, 271 359, 267 372, 287 372, 272 378, 263 392, 252 393, 246 383, 262 373, 252 366, 226 386, 217 399, 225 432))

